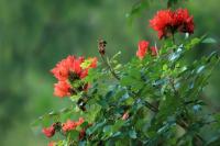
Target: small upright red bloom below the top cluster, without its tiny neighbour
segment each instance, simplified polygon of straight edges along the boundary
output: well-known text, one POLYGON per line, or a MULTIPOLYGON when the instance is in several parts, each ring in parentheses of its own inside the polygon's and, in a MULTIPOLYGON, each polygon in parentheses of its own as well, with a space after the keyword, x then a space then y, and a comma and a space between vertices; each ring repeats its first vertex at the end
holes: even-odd
POLYGON ((139 42, 139 49, 136 52, 136 56, 140 59, 143 59, 145 54, 147 53, 147 48, 148 48, 148 42, 146 42, 146 41, 139 42))

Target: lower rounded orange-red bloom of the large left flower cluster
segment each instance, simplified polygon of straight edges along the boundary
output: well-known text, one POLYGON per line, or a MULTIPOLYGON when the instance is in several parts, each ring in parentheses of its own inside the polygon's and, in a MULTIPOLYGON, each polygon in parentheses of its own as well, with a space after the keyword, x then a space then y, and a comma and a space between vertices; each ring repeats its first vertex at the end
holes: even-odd
POLYGON ((70 85, 66 81, 58 81, 54 85, 54 96, 56 97, 67 97, 70 96, 70 85))

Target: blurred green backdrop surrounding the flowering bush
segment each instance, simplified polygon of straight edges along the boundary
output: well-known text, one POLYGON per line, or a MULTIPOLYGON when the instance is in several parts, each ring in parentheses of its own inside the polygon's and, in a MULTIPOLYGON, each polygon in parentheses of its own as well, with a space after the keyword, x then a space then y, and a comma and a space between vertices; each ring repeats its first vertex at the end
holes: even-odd
MULTIPOLYGON (((55 64, 69 54, 98 56, 97 41, 108 42, 108 54, 122 50, 122 61, 135 55, 140 40, 156 41, 148 19, 162 0, 150 2, 133 23, 128 12, 138 0, 0 0, 0 145, 40 146, 47 139, 33 133, 31 123, 45 112, 68 106, 53 97, 55 64)), ((208 34, 220 42, 219 0, 184 3, 195 16, 194 36, 208 34)), ((198 46, 188 58, 198 58, 220 45, 198 46)), ((220 69, 206 88, 213 111, 220 111, 220 69)))

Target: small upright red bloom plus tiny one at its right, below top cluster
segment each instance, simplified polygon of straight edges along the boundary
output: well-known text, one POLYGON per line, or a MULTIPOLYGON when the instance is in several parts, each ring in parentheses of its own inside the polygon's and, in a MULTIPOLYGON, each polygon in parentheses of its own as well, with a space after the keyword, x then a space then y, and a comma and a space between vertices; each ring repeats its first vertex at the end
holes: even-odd
MULTIPOLYGON (((143 59, 144 56, 147 54, 148 50, 148 42, 147 41, 140 41, 139 42, 139 49, 136 52, 136 56, 140 59, 143 59)), ((151 47, 152 56, 156 56, 158 54, 157 48, 155 46, 151 47)))

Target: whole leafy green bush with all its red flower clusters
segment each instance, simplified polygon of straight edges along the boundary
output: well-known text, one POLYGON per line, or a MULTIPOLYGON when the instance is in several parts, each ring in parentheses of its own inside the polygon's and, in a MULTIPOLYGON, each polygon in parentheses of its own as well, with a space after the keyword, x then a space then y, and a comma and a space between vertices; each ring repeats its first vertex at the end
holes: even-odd
POLYGON ((161 10, 150 26, 164 38, 160 47, 140 41, 136 56, 125 65, 107 55, 100 40, 97 58, 68 56, 52 74, 58 80, 54 96, 69 98, 72 106, 44 114, 33 124, 51 138, 50 146, 72 145, 212 145, 205 126, 219 127, 220 114, 204 113, 201 98, 219 56, 212 53, 194 63, 185 56, 194 46, 210 43, 195 37, 175 43, 175 33, 194 33, 187 9, 161 10))

